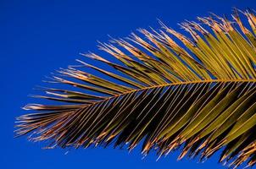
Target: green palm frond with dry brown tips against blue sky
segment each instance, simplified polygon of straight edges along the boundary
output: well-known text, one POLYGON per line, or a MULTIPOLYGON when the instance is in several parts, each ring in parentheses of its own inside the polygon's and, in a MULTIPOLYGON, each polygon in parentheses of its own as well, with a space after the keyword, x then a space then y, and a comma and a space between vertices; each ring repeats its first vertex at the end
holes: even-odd
POLYGON ((32 113, 17 118, 16 134, 48 140, 48 148, 128 144, 132 150, 142 142, 143 155, 181 148, 179 159, 203 160, 223 148, 220 162, 253 166, 256 16, 242 12, 246 22, 238 12, 232 21, 213 14, 198 18, 200 24, 182 23, 190 39, 160 22, 162 30, 139 30, 143 38, 100 43, 111 61, 90 52, 82 55, 97 66, 78 60, 60 69, 49 82, 69 90, 42 88, 47 95, 35 97, 65 104, 25 106, 32 113))

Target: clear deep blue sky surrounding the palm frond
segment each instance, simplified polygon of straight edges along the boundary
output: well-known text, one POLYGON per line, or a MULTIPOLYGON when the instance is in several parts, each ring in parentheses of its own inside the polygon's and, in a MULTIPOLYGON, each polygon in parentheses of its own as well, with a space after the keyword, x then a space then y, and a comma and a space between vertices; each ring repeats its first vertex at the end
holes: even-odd
POLYGON ((256 9, 246 1, 0 1, 1 153, 0 168, 220 168, 218 154, 203 164, 197 160, 176 161, 177 153, 155 161, 142 160, 138 150, 42 150, 42 143, 14 139, 14 117, 32 102, 36 85, 53 70, 74 64, 78 53, 97 51, 97 40, 108 35, 124 37, 137 28, 158 28, 157 18, 175 29, 176 23, 197 16, 230 14, 231 8, 256 9))

